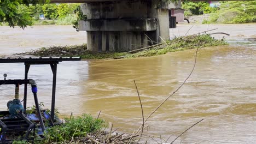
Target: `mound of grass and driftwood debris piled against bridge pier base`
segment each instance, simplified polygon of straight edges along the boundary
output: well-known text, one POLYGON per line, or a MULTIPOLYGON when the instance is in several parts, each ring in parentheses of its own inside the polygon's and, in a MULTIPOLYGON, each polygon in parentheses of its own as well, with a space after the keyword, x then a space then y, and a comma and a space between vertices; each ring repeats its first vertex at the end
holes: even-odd
POLYGON ((198 45, 200 47, 207 46, 218 46, 218 45, 228 45, 225 39, 214 39, 209 34, 202 35, 188 35, 182 37, 176 37, 172 40, 166 41, 167 44, 152 47, 151 49, 139 51, 137 53, 128 52, 91 52, 87 50, 87 45, 73 45, 73 46, 51 46, 48 48, 42 47, 38 50, 33 50, 30 52, 20 53, 25 55, 34 56, 80 56, 84 59, 120 59, 120 58, 135 58, 135 57, 150 57, 164 55, 168 52, 182 51, 188 49, 195 49, 198 45))

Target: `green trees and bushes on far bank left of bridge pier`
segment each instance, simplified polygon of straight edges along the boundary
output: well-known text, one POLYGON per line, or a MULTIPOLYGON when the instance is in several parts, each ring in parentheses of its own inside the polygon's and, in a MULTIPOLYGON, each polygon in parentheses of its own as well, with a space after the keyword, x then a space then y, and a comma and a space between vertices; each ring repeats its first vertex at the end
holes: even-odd
POLYGON ((48 1, 0 1, 0 26, 74 25, 80 4, 43 4, 48 1), (32 3, 32 4, 31 4, 32 3))

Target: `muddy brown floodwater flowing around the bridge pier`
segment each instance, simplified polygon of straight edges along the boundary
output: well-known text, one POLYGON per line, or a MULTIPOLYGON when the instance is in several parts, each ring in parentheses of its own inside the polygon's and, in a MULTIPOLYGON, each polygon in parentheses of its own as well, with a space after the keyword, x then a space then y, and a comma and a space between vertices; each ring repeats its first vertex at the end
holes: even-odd
MULTIPOLYGON (((190 27, 178 25, 177 29, 171 29, 170 35, 184 35, 190 27)), ((173 140, 204 118, 176 143, 255 143, 256 25, 196 25, 189 34, 212 28, 230 33, 230 37, 226 37, 230 45, 200 49, 189 80, 146 123, 149 125, 148 135, 161 135, 165 139, 171 136, 170 140, 173 140)), ((9 38, 0 36, 2 55, 21 51, 17 43, 26 39, 28 42, 21 46, 22 50, 42 45, 73 44, 74 41, 82 44, 85 42, 80 37, 86 37, 83 32, 73 34, 73 29, 67 30, 66 26, 40 27, 35 32, 33 29, 28 32, 5 30, 5 27, 0 29, 2 33, 9 34, 9 38), (59 32, 63 34, 60 29, 66 35, 58 35, 59 32), (24 35, 21 40, 16 39, 17 33, 24 35), (35 43, 31 39, 33 35, 46 43, 35 43)), ((223 35, 215 37, 222 38, 223 35)), ((189 75, 194 59, 195 50, 186 50, 147 58, 61 62, 57 69, 56 107, 66 116, 71 112, 74 115, 91 113, 97 116, 101 111, 100 117, 113 122, 115 128, 121 127, 122 131, 132 133, 142 121, 133 80, 136 80, 141 94, 146 117, 181 85, 189 75)), ((8 79, 24 77, 23 64, 1 64, 0 69, 1 75, 8 74, 8 79)), ((50 66, 32 65, 29 78, 37 81, 39 101, 44 101, 48 107, 51 101, 50 66)), ((6 110, 7 101, 14 97, 14 86, 0 86, 0 89, 0 109, 6 110)), ((31 93, 28 98, 28 103, 33 105, 31 93)))

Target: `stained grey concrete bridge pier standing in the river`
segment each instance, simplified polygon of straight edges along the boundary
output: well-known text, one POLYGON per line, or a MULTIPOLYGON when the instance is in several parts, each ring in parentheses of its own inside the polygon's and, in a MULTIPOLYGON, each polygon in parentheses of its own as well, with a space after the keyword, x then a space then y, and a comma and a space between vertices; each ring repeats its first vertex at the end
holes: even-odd
POLYGON ((87 20, 79 21, 79 30, 87 31, 90 51, 135 50, 169 39, 169 9, 180 7, 181 1, 88 1, 81 4, 87 20))

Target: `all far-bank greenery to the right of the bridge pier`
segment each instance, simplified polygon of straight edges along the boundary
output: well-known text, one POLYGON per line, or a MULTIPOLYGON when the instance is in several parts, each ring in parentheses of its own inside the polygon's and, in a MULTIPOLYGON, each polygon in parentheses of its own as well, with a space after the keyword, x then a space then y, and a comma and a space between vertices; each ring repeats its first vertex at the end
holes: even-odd
POLYGON ((210 7, 208 2, 187 2, 185 17, 210 14, 202 23, 249 23, 256 22, 256 1, 219 2, 218 7, 210 7))

